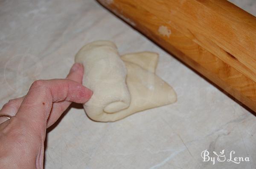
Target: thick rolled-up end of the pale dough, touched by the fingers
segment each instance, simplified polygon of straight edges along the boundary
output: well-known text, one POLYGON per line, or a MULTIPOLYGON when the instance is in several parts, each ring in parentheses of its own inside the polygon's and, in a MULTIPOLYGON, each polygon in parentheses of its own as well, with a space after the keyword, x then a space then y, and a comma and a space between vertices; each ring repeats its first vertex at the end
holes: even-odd
POLYGON ((90 101, 84 104, 90 118, 101 119, 102 113, 116 113, 129 107, 127 70, 113 42, 85 45, 76 54, 76 62, 84 65, 83 85, 93 91, 90 101))

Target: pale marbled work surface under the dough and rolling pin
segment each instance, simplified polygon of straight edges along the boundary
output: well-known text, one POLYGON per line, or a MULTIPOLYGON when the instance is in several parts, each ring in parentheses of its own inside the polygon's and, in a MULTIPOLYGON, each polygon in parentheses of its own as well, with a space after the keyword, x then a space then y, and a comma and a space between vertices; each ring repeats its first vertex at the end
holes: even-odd
MULTIPOLYGON (((256 15, 254 0, 236 2, 256 15)), ((120 54, 159 53, 156 73, 178 101, 113 123, 92 121, 73 104, 48 131, 46 169, 256 168, 255 116, 94 0, 0 1, 0 106, 37 79, 65 78, 76 52, 102 39, 120 54), (250 162, 202 162, 205 149, 250 162)))

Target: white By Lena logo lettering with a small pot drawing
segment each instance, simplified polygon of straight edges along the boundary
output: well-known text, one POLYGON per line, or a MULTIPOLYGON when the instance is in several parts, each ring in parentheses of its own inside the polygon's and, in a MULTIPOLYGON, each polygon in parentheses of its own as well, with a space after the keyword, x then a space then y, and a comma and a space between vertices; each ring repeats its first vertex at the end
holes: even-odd
POLYGON ((239 164, 243 161, 250 161, 249 157, 245 157, 245 158, 244 157, 236 157, 236 155, 235 155, 236 152, 233 150, 229 153, 229 156, 227 156, 227 158, 226 158, 226 155, 224 155, 224 151, 225 150, 223 149, 219 155, 213 151, 212 153, 214 154, 214 156, 210 157, 209 156, 210 153, 206 149, 201 152, 201 157, 203 158, 203 162, 211 161, 213 165, 215 164, 216 160, 219 162, 224 162, 227 160, 227 162, 233 162, 236 164, 239 164))

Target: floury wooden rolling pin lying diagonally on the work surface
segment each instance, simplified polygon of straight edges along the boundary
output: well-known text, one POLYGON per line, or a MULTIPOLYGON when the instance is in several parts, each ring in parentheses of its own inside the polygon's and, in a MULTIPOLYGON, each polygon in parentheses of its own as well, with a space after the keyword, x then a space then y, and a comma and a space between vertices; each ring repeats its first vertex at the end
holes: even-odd
POLYGON ((256 112, 256 17, 226 0, 98 1, 256 112))

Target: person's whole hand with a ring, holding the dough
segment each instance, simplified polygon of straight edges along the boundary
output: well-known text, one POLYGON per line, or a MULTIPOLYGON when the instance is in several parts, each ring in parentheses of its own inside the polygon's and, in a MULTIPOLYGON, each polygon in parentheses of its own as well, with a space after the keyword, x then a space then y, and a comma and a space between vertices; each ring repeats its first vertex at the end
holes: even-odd
POLYGON ((37 80, 26 96, 3 106, 0 114, 13 117, 0 118, 1 169, 43 169, 46 129, 72 102, 85 103, 93 94, 81 85, 83 74, 76 63, 66 79, 37 80))

